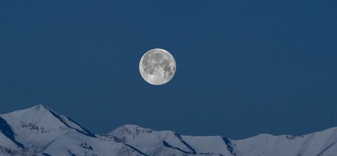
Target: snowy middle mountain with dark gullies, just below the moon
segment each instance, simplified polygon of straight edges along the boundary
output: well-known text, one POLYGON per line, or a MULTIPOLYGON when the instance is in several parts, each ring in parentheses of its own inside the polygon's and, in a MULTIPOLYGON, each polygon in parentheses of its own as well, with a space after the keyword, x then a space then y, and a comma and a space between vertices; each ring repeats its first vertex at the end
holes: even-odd
POLYGON ((180 136, 176 132, 156 132, 136 125, 124 125, 108 135, 147 155, 232 155, 221 136, 180 136))

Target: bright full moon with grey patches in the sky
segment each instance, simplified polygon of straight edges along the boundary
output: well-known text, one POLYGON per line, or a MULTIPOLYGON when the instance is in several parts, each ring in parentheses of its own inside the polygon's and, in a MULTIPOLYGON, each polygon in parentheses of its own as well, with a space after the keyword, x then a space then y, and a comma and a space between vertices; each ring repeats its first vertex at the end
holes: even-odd
POLYGON ((176 60, 170 52, 164 49, 152 49, 140 59, 139 71, 147 83, 164 85, 176 73, 176 60))

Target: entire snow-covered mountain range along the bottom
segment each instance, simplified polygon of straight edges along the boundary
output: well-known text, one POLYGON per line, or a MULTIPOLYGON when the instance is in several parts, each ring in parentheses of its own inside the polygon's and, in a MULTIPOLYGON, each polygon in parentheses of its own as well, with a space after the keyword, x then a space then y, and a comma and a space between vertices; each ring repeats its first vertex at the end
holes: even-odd
POLYGON ((92 134, 73 120, 34 106, 0 115, 0 155, 337 155, 337 127, 303 136, 260 134, 243 140, 182 136, 124 125, 92 134))

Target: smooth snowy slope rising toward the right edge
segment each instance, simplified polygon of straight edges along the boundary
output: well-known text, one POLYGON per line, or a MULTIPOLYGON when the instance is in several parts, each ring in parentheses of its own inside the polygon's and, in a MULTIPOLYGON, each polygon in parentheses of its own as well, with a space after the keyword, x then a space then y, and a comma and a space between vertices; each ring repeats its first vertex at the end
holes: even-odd
POLYGON ((337 155, 337 128, 303 136, 260 134, 234 141, 238 155, 337 155))

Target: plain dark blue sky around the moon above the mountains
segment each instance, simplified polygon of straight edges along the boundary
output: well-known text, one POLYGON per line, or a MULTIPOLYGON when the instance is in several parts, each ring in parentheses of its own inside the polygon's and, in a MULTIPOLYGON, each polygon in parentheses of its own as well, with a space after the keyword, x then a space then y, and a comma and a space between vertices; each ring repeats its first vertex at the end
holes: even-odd
POLYGON ((1 1, 0 113, 243 139, 337 126, 337 2, 1 1), (164 48, 175 77, 150 85, 164 48))

